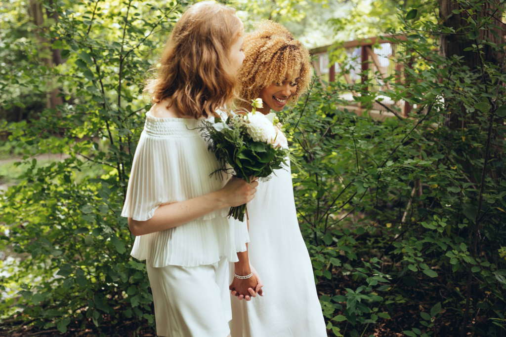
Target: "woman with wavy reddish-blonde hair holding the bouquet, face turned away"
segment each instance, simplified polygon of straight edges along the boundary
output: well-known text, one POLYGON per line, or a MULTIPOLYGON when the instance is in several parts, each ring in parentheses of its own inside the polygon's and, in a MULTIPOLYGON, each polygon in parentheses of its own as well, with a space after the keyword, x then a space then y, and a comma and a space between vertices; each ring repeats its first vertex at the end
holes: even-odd
POLYGON ((242 22, 213 2, 190 7, 161 54, 145 91, 154 105, 135 152, 121 215, 146 260, 156 333, 226 337, 232 318, 229 261, 246 251, 245 224, 231 206, 254 198, 258 182, 209 177, 219 167, 196 127, 236 98, 242 22))

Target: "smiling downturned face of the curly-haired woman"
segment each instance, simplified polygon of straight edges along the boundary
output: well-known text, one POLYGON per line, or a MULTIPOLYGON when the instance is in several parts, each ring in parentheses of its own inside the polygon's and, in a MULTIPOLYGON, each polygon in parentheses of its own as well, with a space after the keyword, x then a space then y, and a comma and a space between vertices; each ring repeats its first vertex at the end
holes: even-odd
POLYGON ((264 101, 264 109, 267 106, 274 111, 283 110, 290 96, 297 91, 299 76, 300 70, 292 78, 286 74, 282 83, 272 83, 263 88, 259 97, 264 101))

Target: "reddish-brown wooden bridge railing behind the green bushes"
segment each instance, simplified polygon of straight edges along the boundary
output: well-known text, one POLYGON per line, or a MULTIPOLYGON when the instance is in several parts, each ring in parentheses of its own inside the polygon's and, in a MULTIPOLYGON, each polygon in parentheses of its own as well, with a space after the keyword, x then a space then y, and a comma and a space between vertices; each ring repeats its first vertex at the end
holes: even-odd
MULTIPOLYGON (((403 66, 397 63, 395 58, 398 45, 386 39, 393 37, 401 41, 406 40, 405 35, 396 35, 353 40, 339 46, 334 44, 318 47, 310 51, 311 55, 316 56, 313 60, 313 67, 317 75, 322 76, 329 82, 335 81, 336 77, 342 75, 348 84, 364 83, 369 80, 373 84, 367 87, 366 90, 371 92, 387 91, 391 87, 385 81, 386 78, 394 76, 396 82, 401 82, 404 77, 403 66), (343 61, 329 64, 330 53, 339 49, 342 49, 345 53, 345 57, 342 58, 343 61)), ((343 93, 342 97, 350 102, 346 106, 348 110, 353 110, 361 115, 363 109, 360 103, 354 102, 354 94, 356 95, 356 93, 350 91, 343 93)), ((373 104, 372 109, 369 110, 372 117, 384 119, 395 117, 395 114, 407 117, 411 111, 412 107, 404 100, 394 102, 390 98, 381 95, 378 98, 383 98, 383 101, 373 104)))

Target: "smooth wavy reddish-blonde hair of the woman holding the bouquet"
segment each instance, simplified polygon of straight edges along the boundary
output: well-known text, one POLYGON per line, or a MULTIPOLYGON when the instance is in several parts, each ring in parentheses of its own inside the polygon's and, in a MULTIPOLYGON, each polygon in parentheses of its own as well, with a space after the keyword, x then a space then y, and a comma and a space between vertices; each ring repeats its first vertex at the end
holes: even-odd
POLYGON ((153 103, 171 98, 185 116, 218 116, 217 109, 238 97, 229 55, 243 29, 233 8, 211 1, 192 5, 174 26, 157 74, 143 91, 153 103))

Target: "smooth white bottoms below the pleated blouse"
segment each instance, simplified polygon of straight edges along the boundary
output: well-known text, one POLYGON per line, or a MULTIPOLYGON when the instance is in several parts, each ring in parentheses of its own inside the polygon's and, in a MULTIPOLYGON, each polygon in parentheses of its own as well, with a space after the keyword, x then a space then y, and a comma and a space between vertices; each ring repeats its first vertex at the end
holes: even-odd
POLYGON ((156 334, 227 337, 232 319, 229 262, 196 267, 146 265, 155 307, 156 334))

